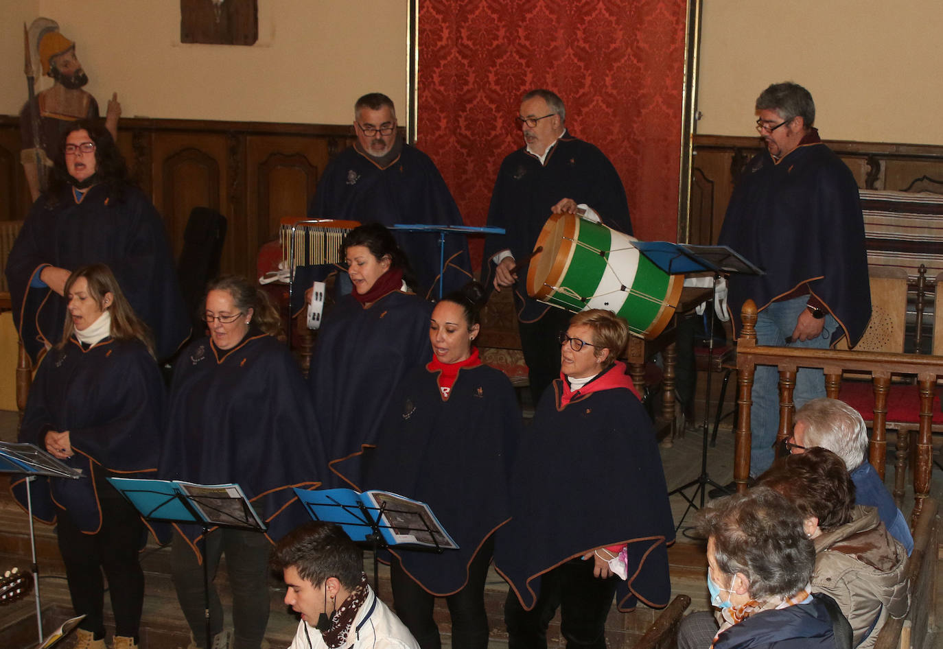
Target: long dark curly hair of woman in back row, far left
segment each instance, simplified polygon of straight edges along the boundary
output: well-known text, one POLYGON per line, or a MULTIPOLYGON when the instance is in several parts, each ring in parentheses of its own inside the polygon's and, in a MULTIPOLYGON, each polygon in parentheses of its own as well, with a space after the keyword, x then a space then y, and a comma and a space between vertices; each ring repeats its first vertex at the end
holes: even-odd
POLYGON ((83 130, 95 143, 95 179, 98 184, 108 187, 108 197, 114 199, 114 202, 120 202, 124 197, 124 189, 131 186, 124 155, 108 129, 98 122, 79 120, 70 124, 59 138, 58 149, 53 157, 55 167, 49 177, 48 207, 57 205, 62 194, 72 187, 74 179, 65 164, 65 142, 72 133, 83 130))

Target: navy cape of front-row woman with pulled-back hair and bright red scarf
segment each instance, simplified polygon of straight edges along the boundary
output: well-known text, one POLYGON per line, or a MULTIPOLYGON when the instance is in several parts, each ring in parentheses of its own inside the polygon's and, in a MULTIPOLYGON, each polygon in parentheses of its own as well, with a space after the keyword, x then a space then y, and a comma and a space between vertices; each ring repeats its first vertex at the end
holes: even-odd
POLYGON ((521 411, 510 381, 493 367, 460 369, 448 400, 437 377, 422 366, 400 384, 376 448, 365 456, 365 482, 425 502, 458 544, 440 555, 390 551, 413 580, 441 597, 465 585, 472 560, 510 517, 505 477, 521 411))

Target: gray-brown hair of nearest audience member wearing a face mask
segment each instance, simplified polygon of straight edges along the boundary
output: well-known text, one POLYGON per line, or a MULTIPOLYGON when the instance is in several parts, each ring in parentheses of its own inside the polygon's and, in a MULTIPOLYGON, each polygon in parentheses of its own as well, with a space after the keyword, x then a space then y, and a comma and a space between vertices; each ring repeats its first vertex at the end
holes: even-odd
POLYGON ((746 576, 753 599, 791 597, 812 578, 816 548, 805 536, 802 513, 769 487, 714 500, 696 520, 698 531, 714 539, 720 572, 746 576))

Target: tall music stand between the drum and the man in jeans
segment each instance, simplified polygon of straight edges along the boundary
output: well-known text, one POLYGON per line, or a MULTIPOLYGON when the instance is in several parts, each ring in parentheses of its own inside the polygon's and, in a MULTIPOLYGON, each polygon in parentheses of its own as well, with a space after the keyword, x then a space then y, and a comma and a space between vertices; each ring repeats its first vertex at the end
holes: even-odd
MULTIPOLYGON (((690 273, 690 272, 712 272, 714 274, 714 290, 711 292, 711 304, 713 305, 717 295, 717 283, 720 280, 720 273, 725 274, 743 274, 743 275, 763 275, 761 268, 756 267, 745 257, 740 255, 728 246, 688 246, 667 241, 636 241, 633 244, 638 251, 648 257, 652 263, 670 274, 690 273)), ((713 376, 714 364, 714 317, 710 318, 710 332, 707 341, 707 377, 704 394, 704 413, 701 423, 703 433, 701 448, 701 475, 686 484, 681 485, 668 493, 669 497, 680 494, 687 501, 687 509, 678 521, 675 532, 681 529, 681 526, 687 518, 687 514, 692 509, 699 510, 704 506, 704 500, 707 495, 707 485, 717 487, 723 490, 723 485, 718 484, 710 478, 707 473, 707 414, 710 410, 711 397, 711 377, 713 376), (688 496, 687 489, 697 486, 694 493, 688 496), (700 493, 701 505, 695 504, 694 499, 700 493)), ((718 406, 720 408, 720 405, 718 406)))

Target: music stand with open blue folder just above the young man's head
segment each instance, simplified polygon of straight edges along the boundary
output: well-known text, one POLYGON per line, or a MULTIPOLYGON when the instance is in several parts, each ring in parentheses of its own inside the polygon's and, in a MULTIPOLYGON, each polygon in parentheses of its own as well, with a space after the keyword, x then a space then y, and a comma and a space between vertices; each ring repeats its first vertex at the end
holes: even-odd
POLYGON ((296 487, 295 494, 313 520, 339 525, 351 541, 366 544, 372 549, 373 591, 378 595, 379 550, 398 547, 441 554, 448 549, 458 549, 458 544, 429 506, 418 500, 372 491, 369 494, 379 500, 379 506, 376 506, 369 495, 361 495, 352 489, 308 491, 296 487))

